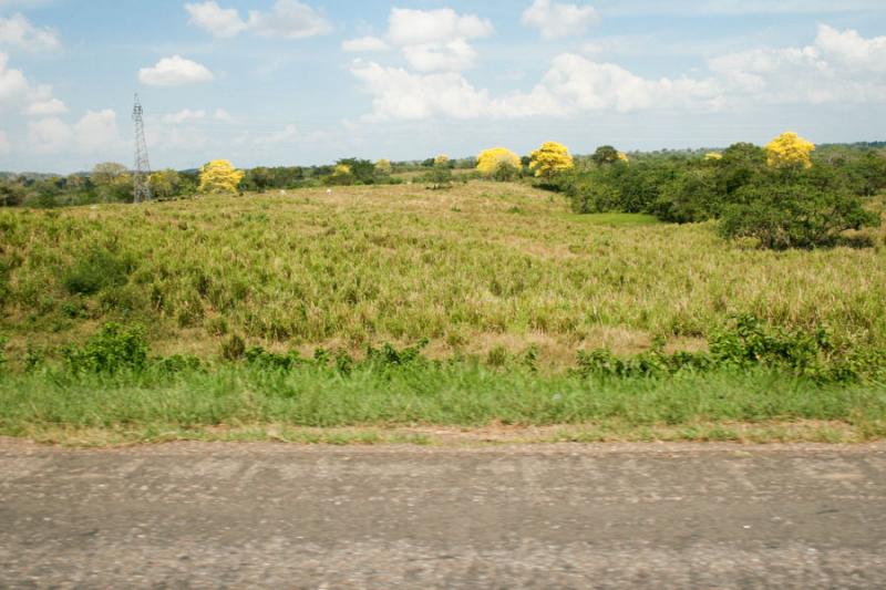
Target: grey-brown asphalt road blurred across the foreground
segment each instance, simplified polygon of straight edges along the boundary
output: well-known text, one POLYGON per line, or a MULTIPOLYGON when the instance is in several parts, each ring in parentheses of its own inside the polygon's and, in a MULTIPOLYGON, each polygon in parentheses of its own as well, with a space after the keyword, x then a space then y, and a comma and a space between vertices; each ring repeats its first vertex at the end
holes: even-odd
POLYGON ((2 588, 886 588, 886 445, 0 442, 2 588))

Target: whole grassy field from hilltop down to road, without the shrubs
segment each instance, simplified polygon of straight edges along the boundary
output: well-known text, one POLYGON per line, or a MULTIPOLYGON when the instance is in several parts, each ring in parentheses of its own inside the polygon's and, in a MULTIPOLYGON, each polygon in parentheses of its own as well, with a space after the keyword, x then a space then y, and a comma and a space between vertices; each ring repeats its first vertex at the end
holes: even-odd
MULTIPOLYGON (((567 372, 579 350, 635 354, 658 340, 669 352, 705 350, 740 313, 786 330, 827 327, 836 351, 883 349, 883 234, 875 248, 763 251, 723 241, 707 224, 577 216, 557 195, 474 182, 2 210, 0 236, 9 340, 0 434, 150 439, 218 426, 499 423, 593 425, 583 432, 602 438, 728 438, 729 424, 815 423, 811 436, 822 439, 841 428, 849 439, 884 434, 878 383, 567 372), (153 354, 210 364, 231 334, 271 351, 356 359, 368 345, 426 339, 429 359, 467 361, 394 377, 226 364, 163 377, 65 376, 53 364, 63 348, 110 320, 143 325, 153 354), (533 370, 501 362, 527 351, 533 370), (25 372, 34 360, 47 366, 25 372)), ((761 432, 791 432, 776 426, 761 432)))

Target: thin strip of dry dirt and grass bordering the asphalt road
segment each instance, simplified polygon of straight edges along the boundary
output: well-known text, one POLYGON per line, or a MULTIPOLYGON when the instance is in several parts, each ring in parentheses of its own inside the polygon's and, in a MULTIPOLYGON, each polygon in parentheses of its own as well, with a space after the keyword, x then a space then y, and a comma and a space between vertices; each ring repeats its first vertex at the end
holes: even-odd
POLYGON ((122 428, 51 428, 0 436, 0 446, 63 446, 73 448, 117 448, 169 443, 277 443, 300 446, 421 446, 498 447, 503 445, 552 445, 589 443, 640 446, 676 444, 858 445, 876 443, 863 427, 842 422, 711 423, 690 426, 624 427, 600 425, 519 426, 494 424, 476 428, 446 426, 391 427, 295 427, 279 424, 214 426, 194 429, 162 427, 126 431, 122 428))

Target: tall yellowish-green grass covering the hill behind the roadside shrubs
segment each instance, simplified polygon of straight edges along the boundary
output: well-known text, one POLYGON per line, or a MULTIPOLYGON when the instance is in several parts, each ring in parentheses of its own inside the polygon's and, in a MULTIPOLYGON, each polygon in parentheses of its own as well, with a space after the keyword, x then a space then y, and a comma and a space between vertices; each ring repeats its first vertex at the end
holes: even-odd
POLYGON ((10 356, 144 324, 159 352, 360 350, 431 339, 429 353, 699 348, 731 314, 828 324, 838 346, 886 345, 886 248, 772 252, 709 225, 573 216, 523 185, 472 183, 0 211, 0 333, 10 356), (113 272, 109 275, 110 270, 113 272))

